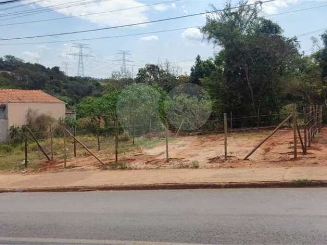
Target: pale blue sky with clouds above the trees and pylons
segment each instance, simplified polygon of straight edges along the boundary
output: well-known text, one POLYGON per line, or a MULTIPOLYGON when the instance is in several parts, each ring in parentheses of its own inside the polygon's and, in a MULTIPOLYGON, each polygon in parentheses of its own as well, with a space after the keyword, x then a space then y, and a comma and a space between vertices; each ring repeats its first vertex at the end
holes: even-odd
MULTIPOLYGON (((221 9, 225 1, 24 0, 21 3, 0 5, 0 39, 122 26, 205 12, 211 10, 211 4, 221 9), (39 10, 42 13, 35 14, 39 10), (33 22, 39 20, 46 21, 33 22)), ((238 2, 233 0, 232 5, 237 6, 238 2)), ((276 0, 263 4, 261 15, 278 23, 287 37, 297 36, 301 51, 310 54, 313 48, 317 48, 312 46, 311 38, 320 39, 323 30, 327 29, 326 13, 327 0, 276 0), (285 13, 312 7, 318 8, 285 13)), ((87 48, 83 49, 86 55, 83 58, 84 76, 108 78, 112 71, 120 70, 120 50, 128 51, 126 64, 134 76, 139 67, 166 60, 178 66, 181 73, 189 74, 197 55, 206 59, 220 50, 219 46, 204 40, 198 28, 191 28, 203 24, 205 15, 199 15, 95 32, 3 40, 0 41, 0 56, 10 54, 47 67, 60 66, 69 76, 76 76, 78 55, 74 54, 78 54, 79 49, 74 47, 74 43, 84 43, 87 44, 87 48), (182 30, 151 33, 171 29, 182 30), (131 34, 140 35, 128 36, 131 34), (99 37, 111 38, 72 41, 99 37)))

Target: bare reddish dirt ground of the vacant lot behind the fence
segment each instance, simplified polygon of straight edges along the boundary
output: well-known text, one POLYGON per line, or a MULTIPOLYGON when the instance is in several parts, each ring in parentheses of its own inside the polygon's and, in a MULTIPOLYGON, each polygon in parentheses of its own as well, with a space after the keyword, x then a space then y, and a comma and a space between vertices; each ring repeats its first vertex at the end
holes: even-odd
MULTIPOLYGON (((272 167, 272 166, 327 166, 327 128, 320 134, 308 150, 302 154, 298 142, 298 160, 293 159, 293 131, 283 129, 266 141, 249 160, 243 158, 271 130, 231 132, 228 134, 228 160, 224 161, 223 134, 190 135, 173 138, 169 142, 170 162, 166 163, 165 142, 153 148, 138 148, 119 155, 119 163, 114 163, 113 149, 98 152, 98 156, 112 168, 157 169, 157 168, 199 168, 218 167, 272 167)), ((69 166, 76 170, 101 167, 91 156, 68 159, 69 166)), ((48 165, 49 166, 49 165, 48 165)), ((53 165, 62 166, 62 162, 53 165)))

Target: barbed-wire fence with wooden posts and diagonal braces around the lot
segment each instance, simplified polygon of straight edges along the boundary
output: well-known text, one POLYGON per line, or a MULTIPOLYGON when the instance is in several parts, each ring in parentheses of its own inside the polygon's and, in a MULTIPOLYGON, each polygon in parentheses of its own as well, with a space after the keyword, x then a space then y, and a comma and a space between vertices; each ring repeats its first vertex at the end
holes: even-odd
MULTIPOLYGON (((127 126, 116 122, 107 127, 84 129, 65 126, 43 132, 32 132, 26 128, 22 148, 25 152, 26 167, 28 167, 31 157, 44 158, 50 164, 59 161, 63 163, 64 167, 67 167, 67 159, 83 156, 93 156, 101 165, 108 166, 117 163, 121 154, 137 150, 144 144, 166 142, 166 161, 169 162, 169 141, 171 138, 198 134, 224 134, 225 159, 227 160, 227 139, 230 133, 271 130, 272 133, 269 135, 271 137, 278 129, 293 128, 294 158, 296 158, 297 140, 301 143, 303 154, 306 154, 321 127, 322 106, 307 106, 299 111, 294 109, 290 113, 267 115, 233 117, 232 113, 224 113, 221 118, 207 120, 201 128, 188 130, 167 122, 127 126), (106 150, 106 154, 100 159, 98 152, 102 150, 106 150)), ((267 139, 265 138, 260 142, 254 151, 267 139)), ((19 156, 21 157, 21 155, 19 156)))

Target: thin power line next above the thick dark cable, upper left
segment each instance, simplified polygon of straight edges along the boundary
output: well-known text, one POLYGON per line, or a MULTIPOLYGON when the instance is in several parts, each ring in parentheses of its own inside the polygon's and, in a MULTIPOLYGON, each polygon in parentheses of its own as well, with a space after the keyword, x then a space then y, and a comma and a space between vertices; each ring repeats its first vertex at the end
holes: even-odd
POLYGON ((155 6, 155 5, 160 5, 160 4, 168 4, 168 3, 177 2, 177 1, 181 1, 181 0, 171 0, 171 1, 166 1, 166 2, 148 4, 148 5, 136 6, 136 7, 129 7, 129 8, 123 8, 123 9, 114 9, 114 10, 97 12, 97 13, 79 14, 79 15, 72 15, 72 16, 59 17, 59 18, 39 19, 39 20, 24 21, 24 22, 18 22, 18 23, 0 24, 0 27, 3 27, 3 26, 15 26, 17 24, 38 23, 38 22, 45 22, 45 21, 53 21, 53 20, 69 19, 69 18, 82 17, 82 16, 90 16, 90 15, 97 15, 97 14, 112 13, 112 12, 118 12, 118 11, 130 10, 130 9, 145 8, 145 7, 155 6))

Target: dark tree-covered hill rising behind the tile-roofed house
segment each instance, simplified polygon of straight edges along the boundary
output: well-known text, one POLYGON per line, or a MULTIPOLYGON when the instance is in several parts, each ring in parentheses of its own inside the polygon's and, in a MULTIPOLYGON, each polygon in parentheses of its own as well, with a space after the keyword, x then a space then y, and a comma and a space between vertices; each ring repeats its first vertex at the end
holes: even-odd
POLYGON ((95 78, 68 77, 58 66, 49 68, 11 55, 0 57, 0 88, 39 89, 69 105, 85 96, 99 96, 102 91, 95 78))

